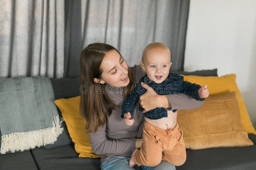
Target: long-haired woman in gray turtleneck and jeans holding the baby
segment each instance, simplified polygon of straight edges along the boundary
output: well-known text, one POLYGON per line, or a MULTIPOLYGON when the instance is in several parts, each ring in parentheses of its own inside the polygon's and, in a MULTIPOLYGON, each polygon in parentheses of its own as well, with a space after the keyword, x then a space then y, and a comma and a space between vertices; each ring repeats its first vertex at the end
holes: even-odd
MULTIPOLYGON (((118 50, 108 44, 93 43, 81 52, 80 84, 85 85, 85 92, 81 94, 80 114, 85 119, 93 152, 102 154, 101 169, 133 169, 128 162, 134 149, 142 144, 144 115, 137 104, 133 113, 135 121, 128 126, 121 118, 121 106, 144 75, 139 65, 128 67, 118 50)), ((147 85, 144 88, 148 93, 140 96, 140 105, 145 111, 164 107, 172 112, 203 105, 202 101, 185 94, 157 95, 147 85)), ((177 116, 177 112, 170 116, 177 116)), ((158 166, 140 166, 140 169, 175 169, 175 166, 162 161, 158 166)))

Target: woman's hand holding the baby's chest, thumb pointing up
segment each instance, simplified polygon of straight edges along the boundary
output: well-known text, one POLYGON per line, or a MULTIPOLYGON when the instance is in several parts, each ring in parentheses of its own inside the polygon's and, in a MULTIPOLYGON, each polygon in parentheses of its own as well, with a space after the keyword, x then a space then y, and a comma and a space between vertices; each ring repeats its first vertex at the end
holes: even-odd
POLYGON ((142 113, 155 109, 156 107, 172 107, 164 95, 158 95, 151 87, 143 82, 141 82, 141 85, 147 89, 146 93, 140 95, 140 106, 144 108, 142 113))

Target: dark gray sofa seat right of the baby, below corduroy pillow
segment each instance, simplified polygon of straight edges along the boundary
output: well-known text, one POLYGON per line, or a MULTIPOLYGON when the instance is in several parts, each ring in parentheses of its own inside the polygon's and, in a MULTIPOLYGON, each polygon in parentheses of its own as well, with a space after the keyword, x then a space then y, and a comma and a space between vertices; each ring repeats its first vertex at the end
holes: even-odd
POLYGON ((186 162, 176 170, 256 169, 256 145, 186 151, 186 162))

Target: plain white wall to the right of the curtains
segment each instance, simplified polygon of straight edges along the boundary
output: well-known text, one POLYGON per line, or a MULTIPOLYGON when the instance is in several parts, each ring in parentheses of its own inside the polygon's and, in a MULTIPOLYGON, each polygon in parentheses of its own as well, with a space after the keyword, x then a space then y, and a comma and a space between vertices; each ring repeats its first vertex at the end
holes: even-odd
POLYGON ((184 70, 236 74, 254 127, 255 65, 256 0, 190 0, 184 70))

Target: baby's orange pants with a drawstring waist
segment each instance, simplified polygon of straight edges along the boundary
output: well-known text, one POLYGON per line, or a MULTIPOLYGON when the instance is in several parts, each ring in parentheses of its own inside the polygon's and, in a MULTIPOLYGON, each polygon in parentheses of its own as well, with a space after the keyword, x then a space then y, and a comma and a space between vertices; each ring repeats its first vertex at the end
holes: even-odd
POLYGON ((174 166, 185 163, 187 158, 183 131, 178 123, 173 129, 160 129, 144 122, 143 143, 134 154, 138 166, 156 166, 165 160, 174 166))

